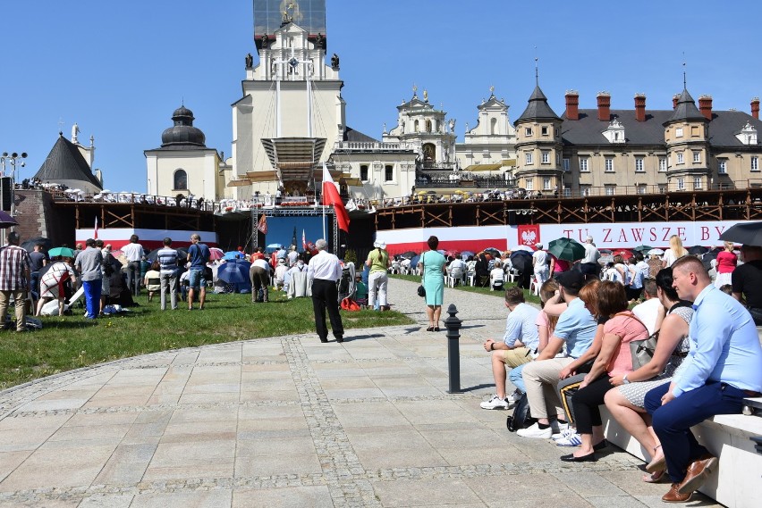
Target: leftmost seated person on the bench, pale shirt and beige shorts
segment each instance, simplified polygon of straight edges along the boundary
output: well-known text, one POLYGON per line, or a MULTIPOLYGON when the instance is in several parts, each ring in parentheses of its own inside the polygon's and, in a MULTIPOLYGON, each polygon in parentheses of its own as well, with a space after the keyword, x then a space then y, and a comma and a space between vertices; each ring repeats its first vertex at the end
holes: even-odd
POLYGON ((481 403, 482 409, 508 409, 511 405, 505 396, 505 366, 511 368, 531 362, 538 352, 539 310, 524 303, 524 291, 519 287, 509 287, 505 291, 505 306, 510 311, 505 321, 505 334, 502 342, 487 339, 486 351, 492 352, 492 374, 495 378, 497 393, 487 402, 481 403))

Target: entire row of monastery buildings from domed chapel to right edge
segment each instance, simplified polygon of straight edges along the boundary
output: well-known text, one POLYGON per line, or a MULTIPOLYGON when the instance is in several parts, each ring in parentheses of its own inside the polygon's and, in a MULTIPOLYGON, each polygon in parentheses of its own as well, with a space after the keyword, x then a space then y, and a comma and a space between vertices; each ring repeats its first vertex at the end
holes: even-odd
POLYGON ((346 199, 370 203, 423 192, 480 194, 486 186, 586 196, 762 185, 755 182, 762 154, 756 98, 750 114, 713 111, 709 96, 697 106, 687 89, 671 110, 648 110, 642 94, 631 110, 611 109, 608 93, 598 94, 597 108, 580 109, 579 94, 570 91, 559 115, 538 83, 511 121, 492 89, 459 142, 455 120, 413 87, 397 106, 396 125, 385 125, 377 139, 346 125, 325 2, 257 2, 254 25, 258 62, 245 58, 241 97, 232 105, 231 156, 205 145, 182 105, 162 145, 145 152, 149 194, 239 203, 279 195, 311 203, 323 163, 346 199))

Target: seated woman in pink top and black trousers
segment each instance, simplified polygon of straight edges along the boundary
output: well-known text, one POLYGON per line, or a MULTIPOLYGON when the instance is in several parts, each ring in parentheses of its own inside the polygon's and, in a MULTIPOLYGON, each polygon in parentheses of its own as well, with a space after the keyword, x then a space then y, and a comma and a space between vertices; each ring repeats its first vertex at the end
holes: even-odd
POLYGON ((572 398, 582 445, 573 454, 563 455, 564 462, 595 462, 596 450, 605 446, 598 406, 604 404, 605 393, 614 387, 611 377, 624 375, 626 378, 632 371, 630 342, 648 337, 648 329, 627 308, 627 294, 622 284, 604 280, 598 285, 598 312, 609 316, 609 320, 604 325, 601 352, 572 398))

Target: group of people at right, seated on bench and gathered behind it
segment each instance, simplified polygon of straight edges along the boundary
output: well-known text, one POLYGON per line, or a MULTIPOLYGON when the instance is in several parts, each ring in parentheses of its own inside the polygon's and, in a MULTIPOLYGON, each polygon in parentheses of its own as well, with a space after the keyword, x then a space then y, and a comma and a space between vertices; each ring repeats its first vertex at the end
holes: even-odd
POLYGON ((595 462, 608 446, 599 410, 605 404, 648 453, 643 481, 667 480, 663 500, 687 502, 717 465, 690 428, 740 413, 744 398, 762 392, 762 322, 755 315, 762 247, 742 246, 741 256, 737 266, 732 243, 724 244, 710 266, 713 281, 674 237, 653 262, 614 257, 612 266, 589 272, 583 264, 597 261, 591 255, 550 271, 539 290, 541 309, 526 304, 518 287, 508 288, 504 337, 484 343, 496 393, 481 407, 507 409, 526 397, 536 421, 519 436, 572 447, 561 461, 595 462), (506 378, 516 387, 510 395, 506 378))

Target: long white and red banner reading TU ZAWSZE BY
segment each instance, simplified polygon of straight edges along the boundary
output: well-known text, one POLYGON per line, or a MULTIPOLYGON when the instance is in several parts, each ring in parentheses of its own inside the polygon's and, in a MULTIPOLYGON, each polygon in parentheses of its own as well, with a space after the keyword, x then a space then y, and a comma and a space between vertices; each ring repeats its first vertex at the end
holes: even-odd
POLYGON ((389 254, 420 252, 428 248, 428 237, 439 238, 439 248, 478 252, 487 247, 499 250, 515 246, 544 244, 556 238, 584 242, 593 237, 598 248, 618 249, 640 245, 669 246, 677 235, 683 246, 721 246, 720 235, 734 224, 746 221, 617 222, 595 224, 529 224, 523 226, 465 226, 460 228, 415 228, 377 231, 377 240, 386 243, 389 254))

